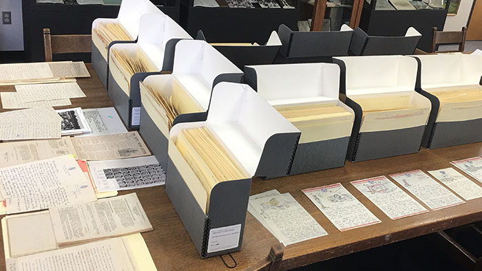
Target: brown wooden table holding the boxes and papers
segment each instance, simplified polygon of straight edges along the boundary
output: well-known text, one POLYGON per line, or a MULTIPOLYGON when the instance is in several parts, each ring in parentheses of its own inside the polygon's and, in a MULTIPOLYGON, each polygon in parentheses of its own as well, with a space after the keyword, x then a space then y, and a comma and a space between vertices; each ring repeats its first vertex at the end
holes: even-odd
MULTIPOLYGON (((73 99, 72 107, 109 107, 112 106, 100 80, 92 66, 87 65, 92 78, 79 79, 87 98, 73 99)), ((0 90, 8 89, 2 87, 0 90)), ((12 89, 12 88, 10 88, 12 89)), ((397 142, 394 142, 397 144, 397 142)), ((415 215, 392 221, 374 204, 366 199, 357 189, 349 184, 353 180, 388 175, 422 169, 423 171, 449 167, 452 160, 461 160, 482 155, 482 143, 466 144, 458 147, 426 150, 419 153, 394 158, 384 158, 366 162, 351 163, 338 169, 306 173, 273 180, 255 178, 251 194, 261 193, 276 188, 280 193, 289 192, 328 232, 327 236, 296 243, 284 248, 284 257, 280 270, 289 270, 300 265, 324 261, 368 248, 383 246, 388 243, 410 239, 437 232, 446 228, 469 224, 482 220, 482 198, 473 199, 465 204, 445 208, 429 213, 415 215), (341 182, 379 219, 381 224, 366 226, 339 232, 311 201, 302 194, 304 188, 341 182)), ((481 185, 479 182, 477 184, 481 185)), ((402 188, 404 189, 404 188, 402 188)), ((120 194, 132 193, 123 191, 120 194)), ((154 230, 143 233, 151 256, 158 270, 228 270, 220 257, 200 259, 189 235, 180 221, 174 207, 169 202, 164 186, 137 189, 140 202, 151 221, 154 230)), ((235 270, 268 270, 271 261, 268 258, 272 246, 279 242, 251 214, 247 215, 242 250, 232 254, 238 266, 235 270)), ((3 249, 0 249, 0 266, 5 266, 3 249)), ((228 256, 224 259, 229 265, 233 262, 228 256)), ((1 270, 0 268, 0 270, 1 270)))

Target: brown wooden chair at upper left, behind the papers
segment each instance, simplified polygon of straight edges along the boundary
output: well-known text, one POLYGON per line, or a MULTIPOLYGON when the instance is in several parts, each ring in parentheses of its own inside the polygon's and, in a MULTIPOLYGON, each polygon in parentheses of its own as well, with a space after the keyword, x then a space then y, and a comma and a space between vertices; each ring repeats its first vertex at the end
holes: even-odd
POLYGON ((90 53, 92 35, 51 35, 49 28, 43 28, 45 61, 52 61, 52 54, 90 53))

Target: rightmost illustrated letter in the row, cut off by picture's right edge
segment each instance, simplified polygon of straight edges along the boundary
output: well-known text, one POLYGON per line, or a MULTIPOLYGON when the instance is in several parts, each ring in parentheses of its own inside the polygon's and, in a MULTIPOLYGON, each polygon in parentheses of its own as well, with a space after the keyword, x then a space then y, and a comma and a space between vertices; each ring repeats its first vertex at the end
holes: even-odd
POLYGON ((439 169, 437 171, 428 171, 428 173, 448 186, 452 191, 459 194, 465 200, 482 197, 482 187, 472 182, 455 169, 439 169))

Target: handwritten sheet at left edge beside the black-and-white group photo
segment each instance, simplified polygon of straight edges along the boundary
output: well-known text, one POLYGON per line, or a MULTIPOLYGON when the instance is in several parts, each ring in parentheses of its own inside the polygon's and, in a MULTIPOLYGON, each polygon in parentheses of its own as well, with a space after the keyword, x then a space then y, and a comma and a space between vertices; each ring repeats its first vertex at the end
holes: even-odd
POLYGON ((61 138, 61 122, 62 118, 52 108, 0 113, 0 140, 61 138))

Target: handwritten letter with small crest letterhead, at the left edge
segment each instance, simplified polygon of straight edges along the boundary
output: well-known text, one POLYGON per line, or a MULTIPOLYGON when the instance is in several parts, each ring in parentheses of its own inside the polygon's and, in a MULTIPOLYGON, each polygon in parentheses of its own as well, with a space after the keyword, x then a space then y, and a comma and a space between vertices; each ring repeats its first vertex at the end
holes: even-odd
POLYGON ((9 214, 96 200, 73 155, 2 168, 0 180, 9 214))

